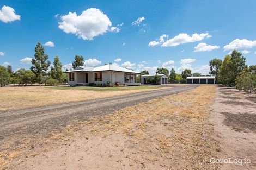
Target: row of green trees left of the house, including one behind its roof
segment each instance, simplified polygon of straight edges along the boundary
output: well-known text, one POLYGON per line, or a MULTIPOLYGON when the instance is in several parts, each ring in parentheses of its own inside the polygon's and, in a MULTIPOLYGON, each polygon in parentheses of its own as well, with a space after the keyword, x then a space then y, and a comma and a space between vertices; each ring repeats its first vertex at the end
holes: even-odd
MULTIPOLYGON (((59 57, 55 56, 51 66, 48 55, 45 54, 44 46, 39 42, 35 46, 35 54, 31 64, 32 66, 29 70, 20 68, 16 72, 13 71, 10 65, 7 67, 0 66, 0 86, 2 87, 7 84, 26 86, 33 83, 57 85, 67 82, 67 75, 62 71, 62 62, 60 62, 59 57)), ((75 60, 72 62, 73 69, 83 64, 83 56, 76 55, 75 60)))

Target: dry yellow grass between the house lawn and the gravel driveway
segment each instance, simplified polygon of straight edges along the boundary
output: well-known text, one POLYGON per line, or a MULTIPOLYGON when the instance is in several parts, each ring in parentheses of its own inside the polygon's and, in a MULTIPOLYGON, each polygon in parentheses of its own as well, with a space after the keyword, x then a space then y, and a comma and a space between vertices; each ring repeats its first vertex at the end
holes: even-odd
MULTIPOLYGON (((7 86, 0 88, 0 111, 29 108, 48 104, 58 104, 65 102, 76 102, 81 100, 103 98, 109 96, 125 95, 141 91, 158 89, 140 89, 126 91, 106 91, 96 92, 89 90, 57 90, 50 89, 49 86, 7 86)), ((131 87, 132 88, 132 87, 131 87)), ((161 89, 161 88, 159 88, 161 89)))

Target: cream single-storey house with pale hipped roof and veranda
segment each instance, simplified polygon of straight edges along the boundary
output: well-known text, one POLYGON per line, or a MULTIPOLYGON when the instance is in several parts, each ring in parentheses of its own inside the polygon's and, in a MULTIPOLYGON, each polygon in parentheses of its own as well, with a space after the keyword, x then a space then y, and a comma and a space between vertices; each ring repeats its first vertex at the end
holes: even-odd
POLYGON ((120 82, 121 85, 141 85, 136 81, 136 76, 142 73, 127 68, 108 64, 100 67, 77 66, 74 70, 66 71, 68 74, 68 84, 71 86, 88 86, 90 83, 104 86, 110 82, 120 82))

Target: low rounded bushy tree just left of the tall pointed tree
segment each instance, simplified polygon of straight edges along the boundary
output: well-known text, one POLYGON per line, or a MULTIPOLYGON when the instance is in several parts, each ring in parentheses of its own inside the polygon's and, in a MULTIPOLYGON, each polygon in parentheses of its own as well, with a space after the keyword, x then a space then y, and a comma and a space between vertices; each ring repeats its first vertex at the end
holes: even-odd
POLYGON ((33 83, 33 80, 35 79, 35 74, 31 70, 26 70, 25 68, 20 68, 16 74, 19 85, 22 86, 26 86, 28 83, 33 83))

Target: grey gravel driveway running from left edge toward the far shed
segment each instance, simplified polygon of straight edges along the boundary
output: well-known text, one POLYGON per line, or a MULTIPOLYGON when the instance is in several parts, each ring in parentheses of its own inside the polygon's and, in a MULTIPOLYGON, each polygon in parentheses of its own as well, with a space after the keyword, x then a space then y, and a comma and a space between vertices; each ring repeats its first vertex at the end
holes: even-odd
POLYGON ((70 123, 84 121, 88 117, 105 115, 126 106, 190 90, 196 86, 169 86, 172 88, 0 112, 0 140, 27 134, 44 135, 70 123))

